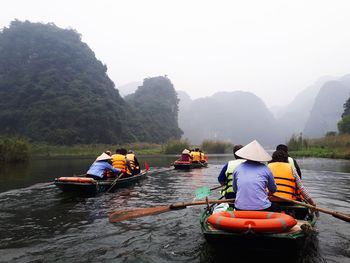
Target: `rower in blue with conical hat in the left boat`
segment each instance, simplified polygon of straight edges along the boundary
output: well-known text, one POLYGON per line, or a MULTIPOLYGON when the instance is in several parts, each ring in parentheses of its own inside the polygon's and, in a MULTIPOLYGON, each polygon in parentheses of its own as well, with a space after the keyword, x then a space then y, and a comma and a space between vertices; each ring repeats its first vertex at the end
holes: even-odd
POLYGON ((96 161, 92 163, 89 170, 86 172, 86 177, 90 177, 95 180, 106 180, 108 178, 108 174, 113 174, 115 176, 123 172, 123 170, 112 166, 111 159, 111 156, 106 153, 102 153, 96 158, 96 161))

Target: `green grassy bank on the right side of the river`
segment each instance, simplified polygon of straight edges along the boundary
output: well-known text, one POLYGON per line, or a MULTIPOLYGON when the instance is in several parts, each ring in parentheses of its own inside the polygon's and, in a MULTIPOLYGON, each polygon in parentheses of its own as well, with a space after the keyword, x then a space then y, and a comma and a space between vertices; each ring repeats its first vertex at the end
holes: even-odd
POLYGON ((329 135, 320 139, 292 139, 288 143, 291 156, 350 159, 350 135, 329 135))

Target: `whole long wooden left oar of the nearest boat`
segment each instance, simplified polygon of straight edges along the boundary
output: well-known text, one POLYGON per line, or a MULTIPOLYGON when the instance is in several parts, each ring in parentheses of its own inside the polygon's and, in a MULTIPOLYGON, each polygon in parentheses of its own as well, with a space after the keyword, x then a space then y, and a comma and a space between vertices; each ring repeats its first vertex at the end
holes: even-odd
POLYGON ((186 208, 187 206, 229 203, 229 202, 233 202, 234 200, 235 199, 180 202, 180 203, 174 203, 174 204, 164 205, 164 206, 136 208, 131 210, 117 210, 109 214, 109 221, 112 223, 115 223, 115 222, 120 222, 128 219, 132 219, 132 218, 156 215, 156 214, 165 213, 176 209, 183 209, 183 208, 186 208))

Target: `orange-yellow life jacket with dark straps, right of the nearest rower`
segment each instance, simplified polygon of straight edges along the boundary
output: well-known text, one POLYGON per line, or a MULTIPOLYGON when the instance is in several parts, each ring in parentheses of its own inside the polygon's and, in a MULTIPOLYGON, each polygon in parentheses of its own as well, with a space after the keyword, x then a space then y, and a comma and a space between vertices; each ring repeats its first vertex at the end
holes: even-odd
MULTIPOLYGON (((299 198, 292 166, 289 163, 275 162, 268 164, 277 185, 275 195, 297 200, 299 198)), ((273 200, 275 201, 275 200, 273 200)), ((278 201, 276 199, 276 201, 278 201)))

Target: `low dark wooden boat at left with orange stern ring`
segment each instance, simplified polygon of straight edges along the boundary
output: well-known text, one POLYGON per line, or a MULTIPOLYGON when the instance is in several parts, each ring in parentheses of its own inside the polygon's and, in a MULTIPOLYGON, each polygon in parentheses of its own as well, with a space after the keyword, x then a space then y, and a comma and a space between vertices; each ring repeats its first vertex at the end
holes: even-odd
POLYGON ((115 178, 108 180, 94 180, 88 177, 60 177, 55 178, 54 184, 63 192, 76 193, 80 195, 94 196, 101 192, 113 192, 118 188, 128 187, 147 176, 147 171, 142 170, 139 174, 118 179, 114 184, 115 178))

